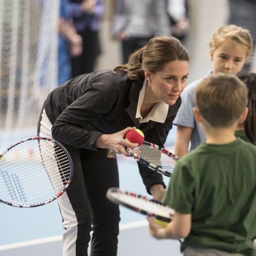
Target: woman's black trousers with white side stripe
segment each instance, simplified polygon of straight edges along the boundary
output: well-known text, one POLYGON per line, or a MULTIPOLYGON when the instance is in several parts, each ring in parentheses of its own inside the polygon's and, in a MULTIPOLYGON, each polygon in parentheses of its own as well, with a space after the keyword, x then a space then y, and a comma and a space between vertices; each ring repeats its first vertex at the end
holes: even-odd
POLYGON ((66 237, 64 233, 64 250, 67 248, 68 252, 68 246, 75 246, 75 256, 87 256, 90 231, 93 230, 90 255, 116 256, 120 212, 119 207, 106 198, 106 192, 110 187, 119 187, 117 159, 109 158, 107 150, 94 152, 63 145, 71 155, 74 176, 67 189, 68 200, 59 202, 60 211, 65 229, 69 215, 77 222, 76 227, 71 227, 76 230, 75 237, 72 232, 66 237), (70 206, 73 212, 68 210, 70 206))

